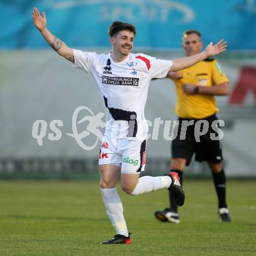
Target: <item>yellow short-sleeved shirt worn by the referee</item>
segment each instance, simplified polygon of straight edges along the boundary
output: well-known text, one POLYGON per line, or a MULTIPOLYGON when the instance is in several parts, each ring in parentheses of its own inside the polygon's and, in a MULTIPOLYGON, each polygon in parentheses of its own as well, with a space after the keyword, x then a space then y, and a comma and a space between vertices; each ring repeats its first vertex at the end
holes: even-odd
POLYGON ((173 80, 177 91, 176 114, 180 118, 203 119, 218 112, 219 109, 213 95, 184 93, 182 84, 197 84, 198 86, 215 86, 229 81, 215 59, 204 61, 180 70, 182 79, 173 80))

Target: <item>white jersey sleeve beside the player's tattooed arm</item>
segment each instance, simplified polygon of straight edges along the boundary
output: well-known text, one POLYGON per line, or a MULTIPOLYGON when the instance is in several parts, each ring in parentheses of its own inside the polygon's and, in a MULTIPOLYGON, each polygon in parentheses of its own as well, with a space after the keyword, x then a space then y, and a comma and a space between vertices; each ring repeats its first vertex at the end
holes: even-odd
POLYGON ((89 73, 98 54, 96 54, 95 52, 83 52, 76 49, 73 49, 73 51, 74 67, 79 67, 79 69, 89 73))

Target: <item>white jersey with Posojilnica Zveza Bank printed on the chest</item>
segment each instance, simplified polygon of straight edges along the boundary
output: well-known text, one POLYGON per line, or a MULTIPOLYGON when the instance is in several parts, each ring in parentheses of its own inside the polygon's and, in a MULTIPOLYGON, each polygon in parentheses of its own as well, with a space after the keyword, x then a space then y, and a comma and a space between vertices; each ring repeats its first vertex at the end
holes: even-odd
POLYGON ((74 65, 89 73, 103 95, 106 136, 144 140, 148 126, 144 116, 151 79, 166 77, 172 61, 144 54, 129 54, 115 62, 111 54, 98 55, 74 49, 74 65))

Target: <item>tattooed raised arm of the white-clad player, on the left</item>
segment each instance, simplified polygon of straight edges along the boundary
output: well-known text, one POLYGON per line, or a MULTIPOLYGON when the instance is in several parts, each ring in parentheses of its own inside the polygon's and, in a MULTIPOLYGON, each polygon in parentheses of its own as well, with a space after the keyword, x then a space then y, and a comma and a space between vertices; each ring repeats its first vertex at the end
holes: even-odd
POLYGON ((56 38, 46 27, 47 20, 45 16, 45 12, 42 12, 42 16, 37 8, 33 8, 32 18, 35 27, 41 32, 42 36, 51 45, 54 51, 58 52, 59 55, 66 58, 68 61, 74 63, 74 54, 73 49, 67 47, 65 42, 56 38))

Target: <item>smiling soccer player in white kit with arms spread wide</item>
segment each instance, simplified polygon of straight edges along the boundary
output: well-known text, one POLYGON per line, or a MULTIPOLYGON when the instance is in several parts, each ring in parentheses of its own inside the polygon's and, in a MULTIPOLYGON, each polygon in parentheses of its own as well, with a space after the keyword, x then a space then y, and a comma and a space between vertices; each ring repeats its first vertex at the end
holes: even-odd
POLYGON ((67 47, 46 27, 42 16, 34 8, 33 22, 51 47, 74 66, 89 73, 102 93, 105 106, 106 131, 99 152, 99 173, 102 198, 116 234, 101 244, 130 244, 123 205, 116 190, 121 173, 121 187, 127 194, 138 195, 158 189, 169 189, 178 205, 183 205, 185 194, 175 172, 166 176, 140 177, 145 168, 147 123, 144 106, 151 79, 166 77, 170 71, 192 66, 226 49, 226 42, 212 42, 197 55, 165 61, 144 54, 131 54, 136 29, 131 24, 113 22, 109 27, 112 51, 98 55, 67 47))

